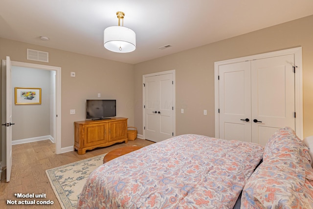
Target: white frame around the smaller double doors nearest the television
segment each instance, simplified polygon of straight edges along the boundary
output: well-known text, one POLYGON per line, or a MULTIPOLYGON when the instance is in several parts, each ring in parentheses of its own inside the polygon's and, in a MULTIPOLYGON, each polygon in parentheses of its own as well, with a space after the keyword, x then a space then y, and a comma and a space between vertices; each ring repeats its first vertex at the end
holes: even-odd
MULTIPOLYGON (((145 78, 146 77, 150 77, 150 76, 157 76, 157 75, 163 75, 163 74, 170 74, 172 73, 173 74, 173 85, 174 85, 174 88, 173 88, 173 135, 176 136, 176 105, 175 105, 175 70, 167 70, 167 71, 162 71, 162 72, 155 72, 155 73, 150 73, 150 74, 145 74, 145 75, 142 75, 142 83, 143 85, 145 84, 145 78)), ((145 108, 144 108, 144 105, 145 105, 145 88, 142 88, 142 121, 143 121, 143 126, 142 126, 142 133, 143 133, 143 139, 146 139, 145 138, 145 130, 144 130, 144 126, 146 124, 146 119, 145 119, 145 108)))

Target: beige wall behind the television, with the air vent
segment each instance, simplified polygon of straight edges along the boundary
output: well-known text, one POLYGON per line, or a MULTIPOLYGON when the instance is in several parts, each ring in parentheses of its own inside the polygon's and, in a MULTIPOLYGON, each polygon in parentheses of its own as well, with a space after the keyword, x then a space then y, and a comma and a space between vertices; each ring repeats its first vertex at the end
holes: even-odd
POLYGON ((0 59, 6 56, 62 68, 62 148, 73 146, 73 122, 86 118, 86 99, 98 99, 97 93, 100 99, 116 99, 117 116, 129 118, 129 126, 134 126, 134 65, 0 38, 0 59), (27 60, 26 48, 49 52, 49 63, 27 60), (76 77, 70 77, 71 71, 76 77), (70 115, 70 109, 76 114, 70 115))

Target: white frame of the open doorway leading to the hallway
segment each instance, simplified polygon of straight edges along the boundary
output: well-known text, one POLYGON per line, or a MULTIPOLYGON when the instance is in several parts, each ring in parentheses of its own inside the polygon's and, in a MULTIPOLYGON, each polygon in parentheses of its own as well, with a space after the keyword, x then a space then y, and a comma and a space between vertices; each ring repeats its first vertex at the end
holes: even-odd
POLYGON ((61 154, 61 68, 55 66, 47 66, 47 65, 39 65, 33 63, 24 63, 11 61, 12 66, 24 67, 24 68, 35 68, 40 70, 54 70, 56 71, 56 101, 54 102, 54 113, 56 117, 54 117, 54 128, 55 135, 54 141, 56 145, 56 154, 61 154))

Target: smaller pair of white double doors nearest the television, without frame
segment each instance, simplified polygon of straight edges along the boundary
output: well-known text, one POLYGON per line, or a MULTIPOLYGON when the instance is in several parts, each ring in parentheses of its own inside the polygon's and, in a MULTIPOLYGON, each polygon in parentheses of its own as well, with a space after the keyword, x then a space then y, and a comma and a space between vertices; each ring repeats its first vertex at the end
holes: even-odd
POLYGON ((173 73, 144 77, 144 138, 162 141, 174 136, 173 73))

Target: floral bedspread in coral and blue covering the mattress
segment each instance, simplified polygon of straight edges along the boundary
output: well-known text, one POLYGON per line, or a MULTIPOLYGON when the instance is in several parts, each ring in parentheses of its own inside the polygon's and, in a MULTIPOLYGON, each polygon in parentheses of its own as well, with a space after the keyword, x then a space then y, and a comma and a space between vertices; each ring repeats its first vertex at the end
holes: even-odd
POLYGON ((233 208, 263 147, 182 135, 143 147, 94 170, 78 208, 233 208))

